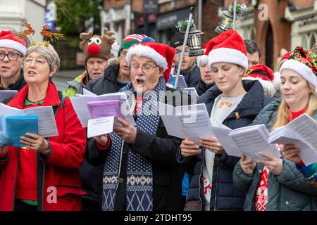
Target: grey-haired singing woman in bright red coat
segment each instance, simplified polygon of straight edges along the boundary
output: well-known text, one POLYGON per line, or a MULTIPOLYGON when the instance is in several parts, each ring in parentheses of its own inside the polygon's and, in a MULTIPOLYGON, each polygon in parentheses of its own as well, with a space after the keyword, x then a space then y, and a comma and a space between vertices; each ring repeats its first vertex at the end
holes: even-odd
POLYGON ((53 46, 27 49, 24 78, 27 85, 8 103, 19 108, 52 106, 58 136, 44 139, 26 133, 20 142, 26 148, 0 149, 0 210, 81 210, 79 167, 85 146, 80 125, 68 98, 51 82, 60 59, 53 46))

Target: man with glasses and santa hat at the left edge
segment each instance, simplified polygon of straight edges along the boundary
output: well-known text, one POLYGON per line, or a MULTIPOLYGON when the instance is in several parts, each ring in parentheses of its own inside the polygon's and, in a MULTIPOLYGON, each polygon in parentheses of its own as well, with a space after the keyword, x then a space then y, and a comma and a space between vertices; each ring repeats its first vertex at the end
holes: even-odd
POLYGON ((23 58, 26 52, 25 39, 13 32, 0 32, 0 90, 17 90, 25 86, 23 58))

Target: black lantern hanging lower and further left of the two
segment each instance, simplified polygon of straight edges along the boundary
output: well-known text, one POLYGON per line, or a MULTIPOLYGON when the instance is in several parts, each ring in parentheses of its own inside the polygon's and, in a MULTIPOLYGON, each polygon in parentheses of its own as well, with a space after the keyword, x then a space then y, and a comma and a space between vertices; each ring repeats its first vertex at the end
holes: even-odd
POLYGON ((201 30, 197 30, 194 23, 194 7, 190 8, 190 13, 192 13, 192 26, 190 27, 188 34, 188 47, 189 47, 189 56, 201 56, 204 55, 204 49, 202 44, 202 35, 204 34, 201 30))

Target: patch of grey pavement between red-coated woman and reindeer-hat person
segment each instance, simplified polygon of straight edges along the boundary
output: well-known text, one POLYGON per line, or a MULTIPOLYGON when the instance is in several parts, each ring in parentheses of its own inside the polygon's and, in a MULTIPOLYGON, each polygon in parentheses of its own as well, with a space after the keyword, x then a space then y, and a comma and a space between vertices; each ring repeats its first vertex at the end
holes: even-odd
POLYGON ((75 79, 75 77, 82 74, 82 72, 84 72, 84 70, 61 70, 54 75, 52 80, 58 91, 64 91, 68 89, 68 84, 66 84, 66 82, 75 79))

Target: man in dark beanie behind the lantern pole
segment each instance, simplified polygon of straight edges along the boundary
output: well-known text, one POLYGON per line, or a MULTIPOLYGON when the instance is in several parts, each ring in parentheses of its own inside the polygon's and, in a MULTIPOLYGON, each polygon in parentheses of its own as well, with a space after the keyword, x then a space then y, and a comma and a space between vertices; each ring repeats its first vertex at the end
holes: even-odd
MULTIPOLYGON (((172 75, 176 75, 178 72, 178 65, 180 64, 180 53, 182 52, 182 44, 184 43, 184 39, 184 33, 176 33, 170 39, 170 46, 175 49, 175 66, 172 69, 172 75)), ((185 54, 182 59, 182 66, 180 68, 180 75, 184 76, 185 82, 188 87, 196 87, 200 79, 200 70, 197 66, 196 60, 197 57, 189 57, 189 47, 186 46, 185 54)))

